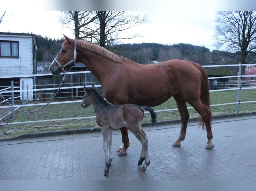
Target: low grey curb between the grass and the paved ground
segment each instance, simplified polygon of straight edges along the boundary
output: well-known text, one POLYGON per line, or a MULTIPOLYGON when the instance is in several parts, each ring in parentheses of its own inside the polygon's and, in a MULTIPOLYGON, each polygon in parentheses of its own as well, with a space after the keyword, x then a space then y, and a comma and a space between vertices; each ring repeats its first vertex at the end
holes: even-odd
MULTIPOLYGON (((256 111, 229 113, 229 114, 213 115, 213 120, 244 117, 244 116, 254 116, 254 115, 256 115, 256 111)), ((198 122, 198 121, 199 121, 198 117, 189 118, 189 122, 198 122)), ((155 124, 154 126, 167 125, 167 124, 180 124, 180 123, 181 123, 181 119, 170 119, 170 120, 157 121, 157 124, 155 124)), ((145 122, 145 123, 142 123, 141 126, 142 127, 152 126, 152 123, 145 122)), ((115 129, 115 130, 118 130, 118 129, 115 129)), ((24 139, 24 138, 38 138, 38 137, 46 137, 46 136, 72 135, 72 134, 80 134, 80 133, 93 133, 93 132, 100 132, 100 131, 101 131, 101 127, 96 126, 92 128, 78 128, 78 129, 35 132, 35 133, 26 133, 26 134, 17 135, 12 138, 0 138, 0 141, 24 139)))

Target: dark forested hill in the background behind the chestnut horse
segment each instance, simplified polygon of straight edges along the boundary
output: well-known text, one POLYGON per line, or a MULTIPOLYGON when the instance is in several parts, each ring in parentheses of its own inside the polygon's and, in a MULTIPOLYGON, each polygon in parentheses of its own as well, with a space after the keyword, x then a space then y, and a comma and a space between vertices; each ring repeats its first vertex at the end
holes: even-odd
MULTIPOLYGON (((64 38, 52 40, 40 35, 36 36, 37 61, 51 62, 61 49, 64 38)), ((228 54, 222 51, 210 51, 206 47, 179 43, 163 45, 158 43, 121 44, 109 47, 108 50, 119 56, 128 58, 139 64, 149 64, 151 61, 162 62, 171 59, 189 60, 207 63, 238 63, 239 53, 228 54)), ((251 55, 256 58, 256 55, 251 55)))

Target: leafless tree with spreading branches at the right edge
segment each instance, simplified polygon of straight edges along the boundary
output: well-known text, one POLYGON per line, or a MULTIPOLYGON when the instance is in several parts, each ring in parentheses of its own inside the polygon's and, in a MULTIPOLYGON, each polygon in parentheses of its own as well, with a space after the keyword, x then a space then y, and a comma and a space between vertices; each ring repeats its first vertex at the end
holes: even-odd
MULTIPOLYGON (((240 62, 248 63, 248 54, 256 50, 256 12, 219 11, 216 22, 215 47, 228 52, 240 52, 240 62)), ((245 66, 242 68, 242 75, 245 66)))

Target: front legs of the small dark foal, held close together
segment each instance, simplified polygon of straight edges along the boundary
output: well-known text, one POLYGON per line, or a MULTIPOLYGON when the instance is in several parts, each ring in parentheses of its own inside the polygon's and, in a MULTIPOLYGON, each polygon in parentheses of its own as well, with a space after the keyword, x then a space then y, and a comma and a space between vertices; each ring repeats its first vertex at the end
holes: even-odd
POLYGON ((110 135, 112 135, 112 131, 110 126, 102 126, 101 127, 101 132, 102 132, 102 136, 103 136, 103 150, 105 153, 105 170, 104 170, 104 175, 107 175, 109 173, 109 167, 111 164, 111 160, 110 160, 110 151, 109 148, 111 146, 111 137, 110 135))

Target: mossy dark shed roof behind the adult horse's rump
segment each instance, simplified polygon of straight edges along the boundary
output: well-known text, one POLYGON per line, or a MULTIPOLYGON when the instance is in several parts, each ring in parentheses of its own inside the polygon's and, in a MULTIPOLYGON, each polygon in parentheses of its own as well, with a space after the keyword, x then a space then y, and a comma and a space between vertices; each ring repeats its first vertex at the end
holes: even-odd
MULTIPOLYGON (((202 66, 210 65, 222 65, 221 63, 207 63, 207 62, 197 62, 202 66)), ((225 66, 219 67, 205 67, 208 76, 232 76, 225 66)))

